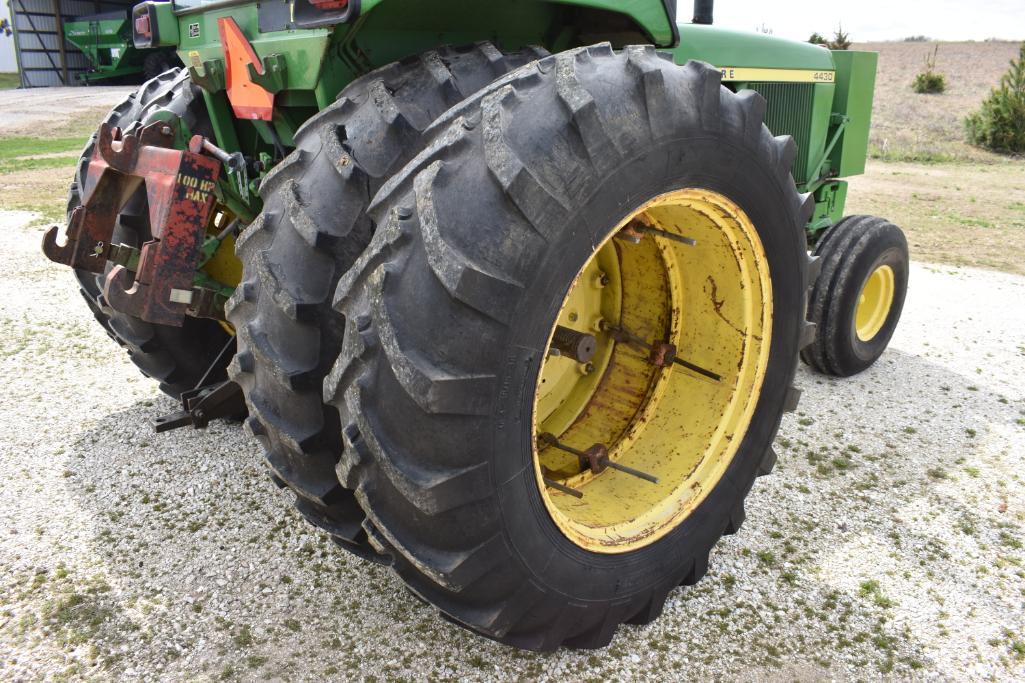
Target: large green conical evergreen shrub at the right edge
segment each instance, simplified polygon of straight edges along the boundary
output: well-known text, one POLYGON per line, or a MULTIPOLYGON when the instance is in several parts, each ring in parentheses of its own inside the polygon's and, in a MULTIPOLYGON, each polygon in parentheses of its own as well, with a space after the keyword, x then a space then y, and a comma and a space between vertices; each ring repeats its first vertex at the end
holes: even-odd
POLYGON ((1025 43, 999 86, 965 120, 965 126, 973 145, 994 152, 1025 153, 1025 43))

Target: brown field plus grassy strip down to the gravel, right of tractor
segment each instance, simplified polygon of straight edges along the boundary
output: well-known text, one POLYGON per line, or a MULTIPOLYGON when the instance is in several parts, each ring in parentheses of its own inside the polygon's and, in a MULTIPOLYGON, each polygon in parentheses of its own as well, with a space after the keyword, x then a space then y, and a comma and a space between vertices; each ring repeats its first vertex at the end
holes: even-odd
POLYGON ((1020 43, 939 43, 939 95, 911 90, 936 43, 861 43, 879 53, 870 155, 851 178, 848 213, 880 215, 907 233, 915 260, 1025 274, 1025 159, 965 142, 1020 43))

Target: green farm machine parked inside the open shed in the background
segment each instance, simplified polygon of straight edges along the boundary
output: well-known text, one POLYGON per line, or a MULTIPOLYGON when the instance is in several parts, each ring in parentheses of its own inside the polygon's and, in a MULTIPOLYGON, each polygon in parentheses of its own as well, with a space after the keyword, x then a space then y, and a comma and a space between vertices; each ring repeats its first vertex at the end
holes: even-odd
POLYGON ((181 66, 173 47, 135 47, 128 9, 67 19, 64 35, 89 61, 90 70, 78 76, 84 83, 150 79, 181 66))

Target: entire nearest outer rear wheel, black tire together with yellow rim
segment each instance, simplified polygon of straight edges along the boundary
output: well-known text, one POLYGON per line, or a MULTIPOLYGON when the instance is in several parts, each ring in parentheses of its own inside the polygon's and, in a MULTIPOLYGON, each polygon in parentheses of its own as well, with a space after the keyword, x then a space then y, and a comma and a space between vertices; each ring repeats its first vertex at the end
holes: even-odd
POLYGON ((338 474, 449 619, 601 647, 740 527, 810 270, 765 109, 707 65, 572 50, 450 112, 375 198, 335 296, 338 474))

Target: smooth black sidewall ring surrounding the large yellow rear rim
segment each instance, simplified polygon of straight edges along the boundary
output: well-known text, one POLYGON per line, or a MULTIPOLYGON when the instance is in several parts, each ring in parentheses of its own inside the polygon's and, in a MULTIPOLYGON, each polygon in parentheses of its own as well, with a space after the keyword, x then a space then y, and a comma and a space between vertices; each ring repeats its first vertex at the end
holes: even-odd
POLYGON ((651 590, 667 576, 679 584, 696 562, 705 561, 750 489, 782 417, 805 312, 807 255, 793 187, 785 187, 767 164, 764 155, 725 136, 658 140, 606 177, 587 201, 573 207, 569 224, 550 226, 552 240, 537 264, 536 277, 526 283, 498 373, 494 405, 499 410, 515 405, 518 410, 493 414, 491 425, 493 481, 506 539, 533 580, 548 592, 584 601, 608 600, 651 590), (559 530, 538 490, 531 421, 545 356, 539 345, 546 343, 577 271, 609 231, 646 201, 681 188, 726 195, 747 213, 758 232, 769 260, 775 311, 767 375, 736 456, 695 511, 645 548, 621 554, 591 553, 559 530), (581 575, 590 580, 581 585, 581 575))

